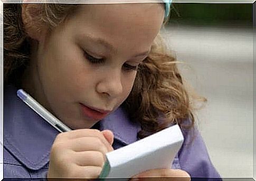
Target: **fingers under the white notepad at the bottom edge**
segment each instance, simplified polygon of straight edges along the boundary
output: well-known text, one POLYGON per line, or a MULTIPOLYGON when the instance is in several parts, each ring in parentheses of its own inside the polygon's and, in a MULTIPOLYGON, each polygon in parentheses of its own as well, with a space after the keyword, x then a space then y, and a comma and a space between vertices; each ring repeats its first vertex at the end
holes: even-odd
POLYGON ((168 181, 190 181, 191 178, 187 172, 181 169, 151 169, 139 173, 130 180, 168 180, 168 181), (149 178, 153 177, 153 178, 149 178))

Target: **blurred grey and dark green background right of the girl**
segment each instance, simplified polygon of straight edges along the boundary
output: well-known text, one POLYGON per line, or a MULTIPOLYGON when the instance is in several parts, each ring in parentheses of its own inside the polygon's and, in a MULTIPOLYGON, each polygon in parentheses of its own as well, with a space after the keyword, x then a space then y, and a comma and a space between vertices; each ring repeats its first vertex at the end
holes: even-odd
POLYGON ((197 126, 222 177, 253 175, 252 4, 173 3, 163 30, 179 70, 207 98, 197 126))

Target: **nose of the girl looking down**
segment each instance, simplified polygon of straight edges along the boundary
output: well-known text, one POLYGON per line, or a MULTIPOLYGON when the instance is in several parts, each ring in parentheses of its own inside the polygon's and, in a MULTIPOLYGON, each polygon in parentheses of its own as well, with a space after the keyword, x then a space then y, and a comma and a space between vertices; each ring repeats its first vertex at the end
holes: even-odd
POLYGON ((98 82, 96 89, 100 94, 107 94, 111 98, 118 97, 122 93, 121 71, 108 71, 98 82))

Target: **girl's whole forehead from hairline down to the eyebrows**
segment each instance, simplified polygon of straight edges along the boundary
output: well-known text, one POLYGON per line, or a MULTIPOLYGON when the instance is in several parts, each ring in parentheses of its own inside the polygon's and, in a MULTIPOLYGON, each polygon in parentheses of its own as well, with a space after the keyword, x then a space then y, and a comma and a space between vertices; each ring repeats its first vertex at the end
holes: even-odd
POLYGON ((131 49, 137 44, 147 51, 162 26, 164 12, 160 3, 83 4, 67 26, 77 39, 97 37, 115 49, 131 49))

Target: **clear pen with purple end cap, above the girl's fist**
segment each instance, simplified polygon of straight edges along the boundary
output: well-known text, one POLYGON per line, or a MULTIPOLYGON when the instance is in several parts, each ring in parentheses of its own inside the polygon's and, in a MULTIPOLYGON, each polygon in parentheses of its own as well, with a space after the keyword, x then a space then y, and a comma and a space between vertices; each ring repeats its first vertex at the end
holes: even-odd
POLYGON ((17 96, 21 98, 23 102, 27 104, 31 109, 33 109, 37 114, 39 114, 43 119, 45 119, 52 127, 60 132, 71 131, 71 129, 64 125, 59 119, 52 115, 51 112, 46 110, 39 102, 33 99, 30 94, 26 93, 24 90, 19 89, 17 91, 17 96))

